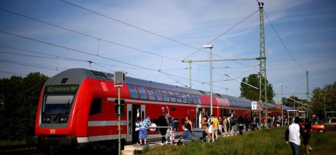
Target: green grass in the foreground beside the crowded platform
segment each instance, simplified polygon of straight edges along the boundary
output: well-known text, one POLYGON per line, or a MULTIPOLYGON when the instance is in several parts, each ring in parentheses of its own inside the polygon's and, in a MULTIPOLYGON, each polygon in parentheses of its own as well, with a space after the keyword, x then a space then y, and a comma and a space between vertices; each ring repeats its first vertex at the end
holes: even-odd
MULTIPOLYGON (((143 154, 292 154, 286 143, 287 127, 263 129, 244 133, 242 136, 220 137, 215 142, 191 142, 188 145, 147 146, 143 154)), ((313 132, 309 140, 313 151, 310 154, 335 154, 336 132, 313 132)), ((304 146, 301 139, 301 154, 304 146)))

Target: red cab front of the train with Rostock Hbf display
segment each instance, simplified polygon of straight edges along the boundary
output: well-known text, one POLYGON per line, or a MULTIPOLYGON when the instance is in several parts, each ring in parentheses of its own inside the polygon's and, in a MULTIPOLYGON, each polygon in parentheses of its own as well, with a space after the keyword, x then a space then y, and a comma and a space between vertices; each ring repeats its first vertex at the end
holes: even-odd
MULTIPOLYGON (((76 124, 82 121, 76 116, 76 106, 80 106, 77 104, 78 93, 86 78, 86 72, 85 69, 69 69, 46 81, 41 92, 35 124, 39 148, 47 151, 51 148, 61 148, 63 151, 66 150, 64 147, 81 147, 76 124)), ((86 130, 85 125, 81 129, 86 130)))

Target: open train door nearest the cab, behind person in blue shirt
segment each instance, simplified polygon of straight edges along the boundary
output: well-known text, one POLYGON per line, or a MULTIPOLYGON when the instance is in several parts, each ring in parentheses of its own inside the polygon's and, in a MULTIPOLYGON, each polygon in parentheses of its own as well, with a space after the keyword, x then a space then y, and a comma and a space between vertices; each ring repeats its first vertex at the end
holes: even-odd
POLYGON ((137 117, 141 117, 140 105, 127 104, 127 136, 128 142, 136 142, 137 135, 135 134, 135 121, 137 117))

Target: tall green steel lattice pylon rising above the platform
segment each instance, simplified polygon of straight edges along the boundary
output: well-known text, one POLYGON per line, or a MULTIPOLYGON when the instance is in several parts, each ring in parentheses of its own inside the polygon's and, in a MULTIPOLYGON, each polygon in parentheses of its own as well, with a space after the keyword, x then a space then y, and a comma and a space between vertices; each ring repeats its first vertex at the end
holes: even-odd
MULTIPOLYGON (((259 55, 259 102, 260 102, 260 108, 262 102, 265 103, 265 118, 267 119, 267 85, 266 85, 266 52, 265 52, 265 31, 264 31, 264 3, 258 2, 259 4, 259 22, 260 22, 260 55, 259 55)), ((261 112, 259 112, 259 122, 261 125, 262 118, 261 118, 261 112)), ((267 124, 267 121, 266 121, 267 124)), ((266 125, 266 128, 268 128, 268 125, 266 125)))

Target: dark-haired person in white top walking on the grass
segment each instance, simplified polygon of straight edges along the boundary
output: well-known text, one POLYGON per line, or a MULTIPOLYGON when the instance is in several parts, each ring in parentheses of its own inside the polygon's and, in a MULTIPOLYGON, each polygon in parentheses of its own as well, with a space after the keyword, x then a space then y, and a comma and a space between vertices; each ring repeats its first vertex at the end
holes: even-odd
POLYGON ((293 155, 300 154, 300 134, 303 133, 302 127, 298 124, 300 121, 299 117, 294 118, 294 123, 290 124, 285 132, 285 138, 287 142, 290 143, 293 155))

